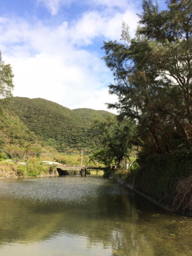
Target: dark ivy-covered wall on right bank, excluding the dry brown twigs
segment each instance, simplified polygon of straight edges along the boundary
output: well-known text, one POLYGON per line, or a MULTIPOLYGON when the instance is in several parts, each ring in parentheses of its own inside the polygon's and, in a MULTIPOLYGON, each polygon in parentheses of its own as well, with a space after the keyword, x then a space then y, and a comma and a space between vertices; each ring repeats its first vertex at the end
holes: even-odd
POLYGON ((135 189, 171 206, 177 183, 192 173, 192 151, 177 151, 138 161, 140 169, 131 176, 135 189))

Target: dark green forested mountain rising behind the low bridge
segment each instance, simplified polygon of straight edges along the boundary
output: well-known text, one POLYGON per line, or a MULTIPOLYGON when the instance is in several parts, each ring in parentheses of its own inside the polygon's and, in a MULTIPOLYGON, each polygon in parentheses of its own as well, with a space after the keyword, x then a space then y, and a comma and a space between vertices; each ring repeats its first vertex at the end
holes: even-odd
POLYGON ((95 116, 113 115, 88 108, 70 110, 41 98, 13 97, 7 108, 10 115, 19 117, 33 137, 60 152, 76 152, 81 147, 93 152, 100 148, 90 126, 95 116))

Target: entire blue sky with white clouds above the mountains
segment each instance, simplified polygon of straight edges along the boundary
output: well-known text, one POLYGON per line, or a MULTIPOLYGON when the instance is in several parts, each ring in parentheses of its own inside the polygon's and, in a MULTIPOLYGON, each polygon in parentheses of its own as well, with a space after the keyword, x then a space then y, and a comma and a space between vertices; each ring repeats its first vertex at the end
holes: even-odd
MULTIPOLYGON (((160 6, 162 0, 158 1, 160 6)), ((11 64, 14 96, 67 108, 107 110, 111 71, 103 41, 119 40, 122 20, 133 37, 141 0, 0 0, 0 50, 11 64)))

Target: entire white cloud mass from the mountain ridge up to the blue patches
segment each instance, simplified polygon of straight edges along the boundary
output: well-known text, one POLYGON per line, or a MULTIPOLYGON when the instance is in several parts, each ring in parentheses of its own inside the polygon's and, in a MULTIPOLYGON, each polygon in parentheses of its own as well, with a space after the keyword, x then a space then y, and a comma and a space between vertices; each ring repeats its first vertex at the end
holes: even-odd
POLYGON ((133 35, 138 17, 131 10, 113 15, 85 12, 57 27, 0 17, 0 49, 15 73, 14 96, 40 97, 71 109, 107 110, 104 103, 116 101, 108 94, 111 71, 96 51, 81 46, 93 44, 96 38, 101 46, 103 40, 119 39, 122 20, 133 35))

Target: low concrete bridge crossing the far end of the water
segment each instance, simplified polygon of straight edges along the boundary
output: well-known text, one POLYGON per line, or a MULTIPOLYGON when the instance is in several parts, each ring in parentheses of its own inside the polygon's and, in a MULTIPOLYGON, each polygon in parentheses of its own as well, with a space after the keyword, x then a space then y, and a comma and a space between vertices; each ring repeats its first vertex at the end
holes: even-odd
POLYGON ((81 177, 86 177, 87 170, 108 170, 109 166, 101 167, 101 166, 78 166, 78 165, 67 165, 67 164, 57 164, 57 171, 59 175, 62 175, 64 170, 81 170, 81 177))

